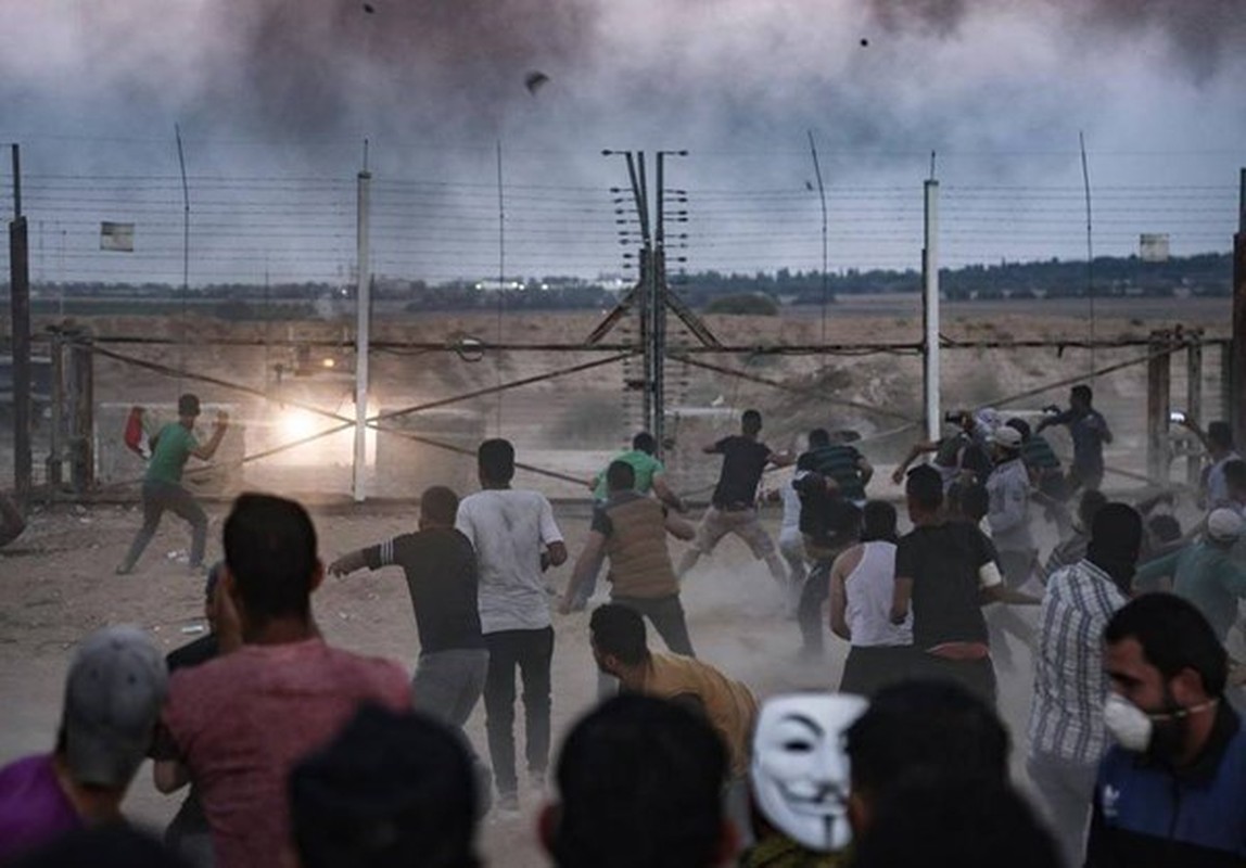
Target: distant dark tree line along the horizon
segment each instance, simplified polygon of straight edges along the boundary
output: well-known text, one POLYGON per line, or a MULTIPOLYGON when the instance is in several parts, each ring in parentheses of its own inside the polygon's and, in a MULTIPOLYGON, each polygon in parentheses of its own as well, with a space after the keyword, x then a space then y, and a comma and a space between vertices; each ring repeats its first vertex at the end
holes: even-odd
MULTIPOLYGON (((1166 262, 1143 262, 1138 257, 1099 257, 1093 269, 1085 262, 1009 263, 998 265, 967 265, 939 270, 939 286, 948 299, 1032 299, 1038 296, 1084 296, 1094 281, 1098 296, 1146 295, 1220 295, 1232 293, 1232 257, 1207 253, 1194 257, 1172 257, 1166 262), (1091 274, 1093 271, 1093 274, 1091 274)), ((694 308, 709 309, 719 300, 731 298, 728 308, 749 305, 745 296, 769 299, 771 304, 817 305, 831 303, 839 295, 917 293, 921 274, 916 270, 857 270, 827 273, 778 271, 753 274, 693 271, 672 276, 672 288, 694 308)), ((7 284, 0 284, 7 293, 7 284)), ((189 290, 186 299, 181 288, 169 284, 105 284, 36 283, 36 313, 55 310, 64 300, 67 313, 168 313, 174 305, 193 304, 197 310, 231 320, 292 319, 307 315, 313 308, 331 303, 349 306, 354 286, 325 281, 255 284, 211 284, 189 290)), ((378 276, 374 298, 401 303, 410 313, 426 310, 573 310, 609 308, 619 298, 617 280, 586 280, 571 276, 545 276, 516 280, 496 289, 482 283, 452 280, 430 284, 378 276)))

